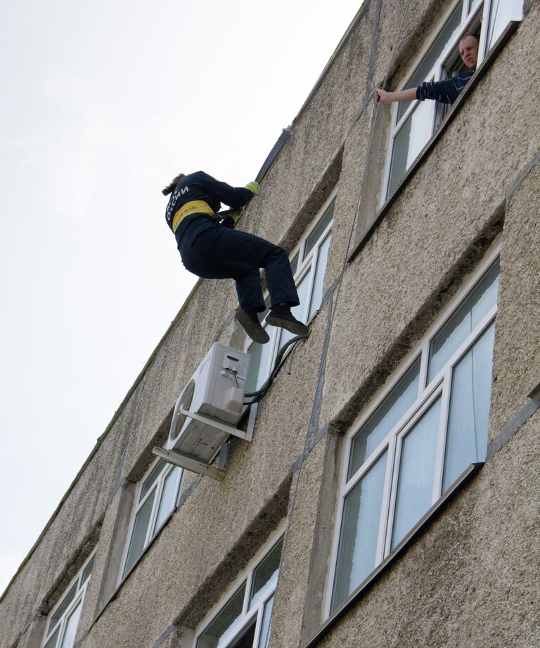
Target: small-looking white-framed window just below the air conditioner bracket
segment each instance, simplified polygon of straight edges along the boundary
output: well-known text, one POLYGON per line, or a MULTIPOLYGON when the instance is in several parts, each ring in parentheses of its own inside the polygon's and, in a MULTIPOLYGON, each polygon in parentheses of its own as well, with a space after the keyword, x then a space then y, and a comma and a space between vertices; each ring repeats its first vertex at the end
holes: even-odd
POLYGON ((163 459, 150 466, 141 480, 122 561, 121 581, 136 564, 176 507, 183 471, 163 459))

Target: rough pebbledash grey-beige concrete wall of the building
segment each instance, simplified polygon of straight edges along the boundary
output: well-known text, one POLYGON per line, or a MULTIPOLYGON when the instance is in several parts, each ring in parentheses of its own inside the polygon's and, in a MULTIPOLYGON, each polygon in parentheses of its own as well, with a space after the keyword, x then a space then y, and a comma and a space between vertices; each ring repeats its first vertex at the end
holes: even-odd
MULTIPOLYGON (((445 6, 443 0, 411 0, 404 14, 397 0, 366 3, 241 221, 242 229, 292 250, 337 190, 325 277, 330 298, 360 188, 364 182, 369 200, 354 243, 373 221, 380 190, 387 114, 378 115, 369 150, 375 110, 366 96, 375 82, 386 78, 395 87, 402 80, 445 6)), ((540 166, 534 163, 540 107, 523 96, 524 88, 539 87, 539 6, 530 4, 517 32, 347 265, 330 337, 327 299, 290 372, 282 369, 262 400, 253 442, 233 441, 226 481, 186 474, 181 506, 117 587, 138 481, 153 461, 153 445, 165 441, 174 398, 212 341, 245 343, 231 321, 233 283, 200 282, 1 600, 1 648, 39 647, 44 615, 94 547, 79 644, 191 648, 193 629, 289 518, 270 646, 309 640, 323 621, 342 432, 496 236, 502 242, 501 287, 490 439, 499 439, 522 412, 540 379, 540 166)), ((484 469, 321 645, 540 644, 534 607, 540 583, 531 569, 540 558, 539 426, 538 412, 515 426, 508 443, 493 450, 484 469)))

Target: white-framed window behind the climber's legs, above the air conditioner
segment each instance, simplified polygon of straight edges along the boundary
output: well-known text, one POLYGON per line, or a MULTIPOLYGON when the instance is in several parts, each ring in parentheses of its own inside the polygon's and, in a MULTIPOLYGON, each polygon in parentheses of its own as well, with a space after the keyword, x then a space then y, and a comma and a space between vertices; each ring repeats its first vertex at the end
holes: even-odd
MULTIPOLYGON (((321 307, 334 205, 335 194, 326 201, 319 216, 290 255, 290 266, 293 269, 300 298, 300 305, 292 308, 291 312, 304 324, 309 324, 321 307)), ((268 331, 270 341, 266 344, 248 343, 247 350, 251 356, 251 363, 246 381, 246 392, 253 392, 261 388, 274 366, 274 360, 279 350, 293 338, 293 333, 266 324, 269 308, 269 300, 266 298, 266 311, 262 315, 262 326, 268 331)))

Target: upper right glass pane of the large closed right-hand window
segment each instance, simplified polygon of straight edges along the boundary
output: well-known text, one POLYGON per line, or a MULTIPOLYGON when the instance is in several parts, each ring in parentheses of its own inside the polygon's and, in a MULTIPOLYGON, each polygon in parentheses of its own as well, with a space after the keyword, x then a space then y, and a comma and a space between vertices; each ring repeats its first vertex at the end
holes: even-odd
POLYGON ((428 384, 435 378, 452 355, 465 342, 489 309, 497 302, 499 290, 499 260, 489 268, 463 304, 432 339, 428 384))

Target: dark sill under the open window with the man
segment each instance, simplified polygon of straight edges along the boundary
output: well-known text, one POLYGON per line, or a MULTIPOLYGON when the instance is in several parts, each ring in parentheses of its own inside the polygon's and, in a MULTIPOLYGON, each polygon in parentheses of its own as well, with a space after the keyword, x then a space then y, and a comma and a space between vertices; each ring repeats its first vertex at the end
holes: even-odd
POLYGON ((457 113, 461 109, 461 106, 463 106, 463 103, 465 103, 465 101, 467 100, 467 97, 470 94, 472 94, 477 84, 479 84, 480 80, 482 80, 484 75, 486 75, 487 71, 494 63, 496 58, 499 56, 499 53, 502 51, 503 47, 506 45, 506 42, 508 42, 508 39, 510 39, 510 37, 515 32, 515 30, 518 29, 519 25, 520 25, 519 20, 513 20, 511 23, 507 25, 506 29, 502 32, 501 36, 499 36, 499 39, 497 39, 497 42, 491 48, 486 58, 484 58, 484 61, 482 61, 480 67, 476 70, 474 75, 471 77, 470 81, 465 86, 463 91, 461 91, 461 94, 458 96, 458 99, 456 99, 456 101, 454 102, 453 106, 449 110, 448 115, 446 115, 446 119, 442 122, 442 124, 437 129, 437 132, 433 134, 430 141, 428 141, 428 144, 426 144, 422 149, 422 151, 418 153, 418 157, 416 158, 416 160, 414 160, 414 162, 411 164, 409 169, 406 171, 404 177, 401 179, 401 182, 399 182, 399 184, 396 186, 394 191, 392 191, 390 198, 387 199, 387 201, 377 212, 377 215, 375 216, 375 220, 368 228, 364 236, 362 236, 356 248, 354 248, 352 253, 349 255, 347 262, 349 263, 352 262, 352 260, 356 258, 356 255, 358 255, 361 252, 362 248, 364 248, 368 240, 371 239, 373 232, 375 231, 375 229, 377 229, 379 223, 381 222, 381 220, 383 220, 387 211, 390 210, 390 207, 394 204, 394 201, 396 201, 397 197, 399 196, 401 191, 403 191, 406 184, 413 177, 413 175, 418 171, 418 169, 423 165, 426 158, 428 158, 428 155, 430 155, 433 148, 435 148, 435 146, 437 145, 439 139, 441 139, 446 129, 454 120, 457 113))

